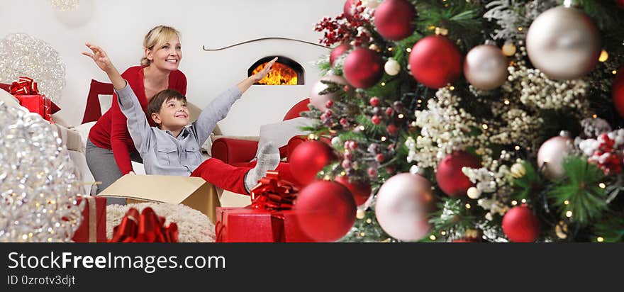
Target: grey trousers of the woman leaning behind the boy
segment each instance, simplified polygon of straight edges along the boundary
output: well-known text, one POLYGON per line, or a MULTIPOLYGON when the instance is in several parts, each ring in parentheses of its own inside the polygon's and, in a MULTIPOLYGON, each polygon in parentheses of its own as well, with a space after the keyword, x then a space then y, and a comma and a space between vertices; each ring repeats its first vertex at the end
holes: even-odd
MULTIPOLYGON (((97 185, 96 193, 100 193, 122 176, 121 170, 119 170, 117 162, 115 162, 113 150, 97 147, 91 140, 87 140, 86 148, 85 152, 89 170, 91 170, 91 174, 93 174, 96 181, 102 182, 102 184, 97 185)), ((130 152, 130 159, 134 162, 143 163, 143 159, 135 151, 130 152)), ((106 198, 106 205, 112 204, 126 205, 126 199, 106 198)))

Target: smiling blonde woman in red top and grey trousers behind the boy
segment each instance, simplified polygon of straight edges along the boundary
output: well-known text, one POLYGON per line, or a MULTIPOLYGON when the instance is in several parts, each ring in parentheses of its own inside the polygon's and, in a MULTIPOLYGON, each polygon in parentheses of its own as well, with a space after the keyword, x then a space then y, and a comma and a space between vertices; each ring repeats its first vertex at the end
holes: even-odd
MULTIPOLYGON (((121 76, 128 81, 138 97, 143 111, 147 111, 147 103, 158 92, 175 89, 186 95, 186 76, 178 70, 182 60, 180 33, 169 26, 152 28, 143 40, 145 57, 140 66, 126 69, 121 76)), ((113 95, 113 101, 117 96, 113 95)), ((150 125, 153 120, 148 119, 150 125)), ((87 164, 96 181, 97 193, 103 191, 124 174, 134 173, 132 160, 141 162, 135 149, 126 116, 123 115, 117 102, 106 111, 91 128, 87 140, 87 164)), ((121 198, 108 198, 107 204, 124 204, 121 198)))

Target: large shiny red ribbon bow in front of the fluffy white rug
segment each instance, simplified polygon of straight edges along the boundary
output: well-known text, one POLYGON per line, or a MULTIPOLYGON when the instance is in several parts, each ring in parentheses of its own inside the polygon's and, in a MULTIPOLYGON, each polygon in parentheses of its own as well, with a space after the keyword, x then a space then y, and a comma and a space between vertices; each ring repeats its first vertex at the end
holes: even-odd
POLYGON ((121 223, 113 228, 113 238, 108 242, 178 242, 178 225, 169 223, 147 207, 139 211, 130 208, 121 223))

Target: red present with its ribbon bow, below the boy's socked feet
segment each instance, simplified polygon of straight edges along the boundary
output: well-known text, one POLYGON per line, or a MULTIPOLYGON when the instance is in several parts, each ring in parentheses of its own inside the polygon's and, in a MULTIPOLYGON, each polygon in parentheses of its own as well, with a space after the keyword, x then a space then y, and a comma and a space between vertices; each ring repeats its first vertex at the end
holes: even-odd
POLYGON ((267 172, 251 191, 252 205, 217 208, 216 242, 315 242, 290 210, 296 192, 277 172, 267 172))

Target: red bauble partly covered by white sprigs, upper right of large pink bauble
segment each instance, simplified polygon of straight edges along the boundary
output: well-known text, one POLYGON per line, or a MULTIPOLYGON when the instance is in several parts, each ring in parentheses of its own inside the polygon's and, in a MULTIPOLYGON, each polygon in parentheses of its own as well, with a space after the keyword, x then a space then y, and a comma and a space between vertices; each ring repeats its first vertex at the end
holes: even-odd
POLYGON ((481 168, 479 160, 463 151, 447 155, 440 164, 435 179, 444 193, 453 198, 465 197, 472 182, 462 172, 462 167, 481 168))

